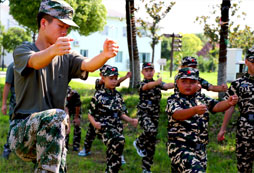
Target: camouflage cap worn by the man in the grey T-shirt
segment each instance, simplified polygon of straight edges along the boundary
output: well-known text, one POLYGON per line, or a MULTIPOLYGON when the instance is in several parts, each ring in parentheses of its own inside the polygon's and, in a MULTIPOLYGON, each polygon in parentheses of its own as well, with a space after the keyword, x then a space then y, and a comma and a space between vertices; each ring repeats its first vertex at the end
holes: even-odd
POLYGON ((73 8, 63 0, 42 0, 39 12, 55 17, 67 25, 79 27, 73 22, 73 8))

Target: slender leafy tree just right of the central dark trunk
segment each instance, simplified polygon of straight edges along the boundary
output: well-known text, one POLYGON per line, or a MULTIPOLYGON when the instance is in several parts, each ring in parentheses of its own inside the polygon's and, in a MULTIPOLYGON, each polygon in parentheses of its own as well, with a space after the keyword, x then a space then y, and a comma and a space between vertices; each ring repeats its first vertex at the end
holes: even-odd
POLYGON ((149 19, 144 20, 139 18, 137 22, 141 25, 142 29, 145 32, 145 36, 152 39, 151 48, 152 48, 152 63, 154 62, 154 52, 155 45, 159 43, 159 40, 162 38, 162 35, 158 34, 159 32, 159 23, 162 19, 166 17, 172 7, 175 5, 175 2, 170 2, 165 4, 165 1, 158 0, 142 0, 142 4, 145 3, 145 9, 147 14, 152 18, 152 23, 149 23, 149 19))

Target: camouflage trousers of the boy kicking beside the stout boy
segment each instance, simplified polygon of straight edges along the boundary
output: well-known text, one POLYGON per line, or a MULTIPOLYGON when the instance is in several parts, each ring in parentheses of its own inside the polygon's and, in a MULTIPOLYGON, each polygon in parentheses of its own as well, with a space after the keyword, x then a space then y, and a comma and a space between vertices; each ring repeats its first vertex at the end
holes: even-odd
POLYGON ((144 130, 136 139, 136 145, 146 151, 146 156, 142 158, 142 169, 150 171, 153 164, 153 156, 155 153, 156 136, 158 133, 159 114, 148 113, 138 110, 138 122, 144 130))

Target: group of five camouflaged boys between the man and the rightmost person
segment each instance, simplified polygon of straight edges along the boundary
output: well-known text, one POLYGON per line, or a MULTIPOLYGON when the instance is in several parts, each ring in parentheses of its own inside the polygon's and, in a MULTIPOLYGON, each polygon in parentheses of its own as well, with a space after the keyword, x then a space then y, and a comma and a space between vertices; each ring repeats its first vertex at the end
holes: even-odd
POLYGON ((104 65, 100 69, 101 79, 96 81, 96 91, 91 100, 88 118, 90 121, 84 149, 79 156, 91 154, 92 141, 96 135, 107 146, 106 172, 118 172, 125 163, 123 149, 124 120, 134 127, 138 124, 142 134, 133 141, 133 146, 142 157, 144 173, 151 172, 158 133, 161 90, 174 88, 174 94, 168 98, 166 113, 168 114, 167 151, 171 159, 172 172, 205 172, 206 145, 208 143, 208 111, 223 112, 237 103, 236 95, 227 100, 217 100, 201 94, 201 88, 211 91, 226 91, 227 85, 214 86, 199 77, 197 60, 184 57, 175 83, 165 83, 159 78, 154 80, 154 66, 146 62, 142 66, 144 80, 138 86, 139 103, 137 119, 128 117, 128 111, 121 94, 115 89, 129 77, 118 79, 117 67, 104 65))

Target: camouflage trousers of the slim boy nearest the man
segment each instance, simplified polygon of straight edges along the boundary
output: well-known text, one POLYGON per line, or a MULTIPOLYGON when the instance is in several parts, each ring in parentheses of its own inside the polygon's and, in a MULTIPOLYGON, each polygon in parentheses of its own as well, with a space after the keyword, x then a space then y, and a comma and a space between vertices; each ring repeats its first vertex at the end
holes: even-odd
POLYGON ((103 143, 107 146, 107 168, 106 173, 117 173, 122 165, 121 155, 123 154, 125 138, 122 127, 105 128, 96 130, 96 133, 102 137, 103 143))

